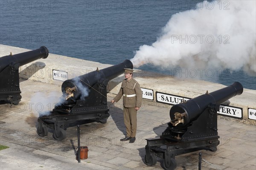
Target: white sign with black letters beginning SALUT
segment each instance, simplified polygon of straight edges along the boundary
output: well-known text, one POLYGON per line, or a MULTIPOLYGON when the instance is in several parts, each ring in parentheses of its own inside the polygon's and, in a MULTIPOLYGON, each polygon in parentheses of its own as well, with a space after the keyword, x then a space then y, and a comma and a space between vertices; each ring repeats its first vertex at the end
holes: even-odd
POLYGON ((186 102, 187 100, 189 100, 189 98, 170 95, 170 94, 164 94, 164 93, 160 93, 160 92, 156 93, 156 98, 157 98, 157 102, 166 103, 169 105, 176 105, 181 102, 186 102))

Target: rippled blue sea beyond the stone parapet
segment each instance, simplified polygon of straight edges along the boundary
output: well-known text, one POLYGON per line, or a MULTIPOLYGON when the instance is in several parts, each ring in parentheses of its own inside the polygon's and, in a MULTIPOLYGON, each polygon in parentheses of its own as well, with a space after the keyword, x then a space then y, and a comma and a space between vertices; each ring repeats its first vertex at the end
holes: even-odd
MULTIPOLYGON (((32 50, 44 45, 53 54, 118 64, 133 58, 141 45, 155 42, 173 14, 194 9, 200 2, 0 0, 0 43, 32 50)), ((179 70, 149 64, 139 69, 169 75, 179 70)), ((238 81, 244 88, 256 90, 255 74, 223 68, 215 73, 217 77, 203 79, 224 85, 238 81)))

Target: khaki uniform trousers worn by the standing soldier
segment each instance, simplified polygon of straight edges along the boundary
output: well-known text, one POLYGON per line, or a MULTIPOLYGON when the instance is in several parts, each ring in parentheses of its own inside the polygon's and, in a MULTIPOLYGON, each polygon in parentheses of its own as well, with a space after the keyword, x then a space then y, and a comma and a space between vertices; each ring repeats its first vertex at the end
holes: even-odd
POLYGON ((126 136, 135 137, 137 131, 137 111, 135 108, 124 107, 124 123, 126 127, 126 136))

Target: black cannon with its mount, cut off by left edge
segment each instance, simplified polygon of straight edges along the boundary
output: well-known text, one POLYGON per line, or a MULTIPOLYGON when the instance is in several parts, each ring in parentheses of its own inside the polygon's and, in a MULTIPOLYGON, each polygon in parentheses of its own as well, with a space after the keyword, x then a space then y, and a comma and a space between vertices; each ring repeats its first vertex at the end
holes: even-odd
POLYGON ((11 53, 9 56, 0 57, 0 104, 19 104, 21 99, 20 66, 37 59, 45 59, 48 54, 48 49, 42 46, 36 50, 14 55, 11 53))

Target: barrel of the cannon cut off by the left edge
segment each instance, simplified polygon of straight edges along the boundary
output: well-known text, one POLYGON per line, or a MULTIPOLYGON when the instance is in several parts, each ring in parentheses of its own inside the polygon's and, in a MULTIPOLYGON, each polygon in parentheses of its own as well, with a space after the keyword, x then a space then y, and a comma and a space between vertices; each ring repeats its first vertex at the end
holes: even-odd
POLYGON ((19 63, 19 66, 22 66, 37 59, 45 59, 48 57, 48 54, 48 49, 45 46, 41 46, 36 50, 0 57, 0 72, 3 71, 3 69, 9 66, 12 62, 19 63))

